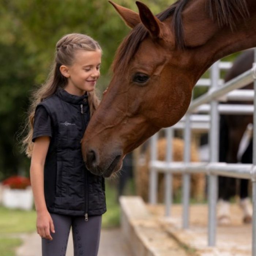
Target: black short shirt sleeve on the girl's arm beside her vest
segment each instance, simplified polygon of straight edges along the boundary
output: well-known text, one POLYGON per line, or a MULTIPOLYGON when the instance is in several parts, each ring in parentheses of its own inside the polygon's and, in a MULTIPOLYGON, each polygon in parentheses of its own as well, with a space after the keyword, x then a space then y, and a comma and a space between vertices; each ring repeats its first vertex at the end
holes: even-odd
POLYGON ((39 106, 35 111, 32 142, 35 142, 35 138, 40 136, 52 137, 50 116, 43 106, 39 106))

